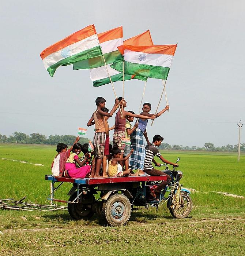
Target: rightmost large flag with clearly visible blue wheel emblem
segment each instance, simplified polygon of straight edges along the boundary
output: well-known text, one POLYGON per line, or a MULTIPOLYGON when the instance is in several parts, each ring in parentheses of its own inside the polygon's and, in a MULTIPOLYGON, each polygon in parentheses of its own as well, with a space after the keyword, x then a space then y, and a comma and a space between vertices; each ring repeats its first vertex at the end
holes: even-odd
MULTIPOLYGON (((124 55, 124 73, 166 80, 169 74, 177 44, 134 46, 123 45, 120 48, 124 55)), ((111 65, 122 71, 120 62, 111 65)))

